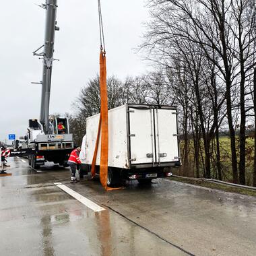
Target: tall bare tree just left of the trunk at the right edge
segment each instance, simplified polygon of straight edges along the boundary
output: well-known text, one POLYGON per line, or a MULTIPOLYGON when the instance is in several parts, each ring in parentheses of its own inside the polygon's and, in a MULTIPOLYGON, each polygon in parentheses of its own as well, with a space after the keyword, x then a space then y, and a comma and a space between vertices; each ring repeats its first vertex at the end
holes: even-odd
POLYGON ((245 106, 247 96, 247 76, 255 65, 255 1, 234 0, 230 1, 232 7, 232 23, 229 28, 232 31, 234 41, 234 57, 237 60, 238 72, 236 74, 240 84, 240 130, 239 130, 239 183, 245 185, 245 131, 246 115, 245 106))

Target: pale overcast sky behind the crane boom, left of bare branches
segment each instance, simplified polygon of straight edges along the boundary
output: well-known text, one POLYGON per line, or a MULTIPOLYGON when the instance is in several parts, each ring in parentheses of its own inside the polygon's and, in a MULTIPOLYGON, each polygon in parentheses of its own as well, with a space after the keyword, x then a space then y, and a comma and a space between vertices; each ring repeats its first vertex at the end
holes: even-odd
MULTIPOLYGON (((0 141, 25 135, 28 119, 38 119, 42 61, 32 51, 44 44, 45 10, 38 0, 1 1, 0 141)), ((144 0, 102 0, 107 74, 124 79, 148 67, 134 53, 148 20, 144 0)), ((96 0, 59 0, 50 113, 71 113, 81 87, 98 73, 99 32, 96 0)), ((7 140, 8 142, 8 140, 7 140)))

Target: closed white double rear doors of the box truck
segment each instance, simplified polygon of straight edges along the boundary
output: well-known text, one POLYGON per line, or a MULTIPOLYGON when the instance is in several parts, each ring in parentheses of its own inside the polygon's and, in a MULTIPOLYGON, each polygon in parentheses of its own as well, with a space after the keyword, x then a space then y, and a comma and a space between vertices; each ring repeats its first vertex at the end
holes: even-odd
POLYGON ((179 162, 176 108, 132 105, 128 113, 131 165, 168 166, 179 162))

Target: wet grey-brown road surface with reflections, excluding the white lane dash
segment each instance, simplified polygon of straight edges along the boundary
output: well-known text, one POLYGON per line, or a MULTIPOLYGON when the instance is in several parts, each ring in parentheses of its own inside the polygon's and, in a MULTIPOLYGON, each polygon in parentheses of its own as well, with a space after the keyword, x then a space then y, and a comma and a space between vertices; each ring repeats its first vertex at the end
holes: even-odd
POLYGON ((106 192, 97 181, 70 184, 69 168, 9 164, 12 176, 0 177, 0 255, 255 255, 255 197, 164 179, 106 192))

